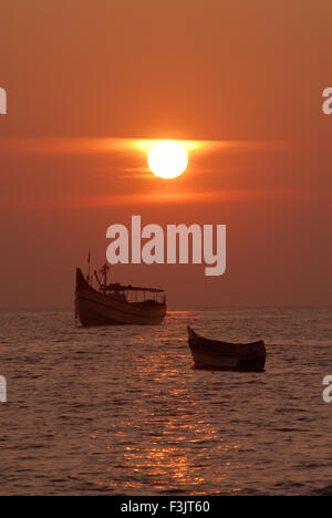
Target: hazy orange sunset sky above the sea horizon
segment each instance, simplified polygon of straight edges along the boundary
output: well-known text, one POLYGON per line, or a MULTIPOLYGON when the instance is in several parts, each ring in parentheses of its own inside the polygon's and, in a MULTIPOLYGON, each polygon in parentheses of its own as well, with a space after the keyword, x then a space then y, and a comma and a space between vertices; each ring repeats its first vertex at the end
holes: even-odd
POLYGON ((70 308, 132 215, 227 225, 222 277, 112 268, 170 309, 331 304, 331 0, 1 0, 0 19, 1 308, 70 308), (158 138, 195 144, 178 178, 147 169, 158 138))

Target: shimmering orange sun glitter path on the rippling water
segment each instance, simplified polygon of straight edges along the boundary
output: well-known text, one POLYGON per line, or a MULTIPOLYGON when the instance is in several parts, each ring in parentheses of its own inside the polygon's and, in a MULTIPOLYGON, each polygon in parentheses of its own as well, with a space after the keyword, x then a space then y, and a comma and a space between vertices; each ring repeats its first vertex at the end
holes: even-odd
MULTIPOLYGON (((188 317, 187 312, 172 315, 180 321, 188 317)), ((108 455, 103 487, 133 494, 147 487, 160 494, 221 494, 228 474, 241 469, 237 462, 241 444, 235 437, 227 439, 211 418, 209 391, 199 384, 204 373, 190 371, 186 340, 178 327, 159 328, 155 338, 149 336, 156 346, 149 343, 148 361, 146 336, 141 332, 135 340, 142 354, 131 363, 128 384, 113 394, 116 421, 111 419, 111 427, 93 442, 95 446, 100 441, 96 449, 108 455)))

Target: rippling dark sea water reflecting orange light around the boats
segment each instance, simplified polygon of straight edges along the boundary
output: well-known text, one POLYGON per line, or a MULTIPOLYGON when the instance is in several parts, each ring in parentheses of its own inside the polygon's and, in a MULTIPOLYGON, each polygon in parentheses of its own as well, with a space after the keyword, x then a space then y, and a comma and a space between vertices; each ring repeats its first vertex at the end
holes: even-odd
POLYGON ((75 328, 0 311, 1 495, 332 495, 332 310, 170 312, 75 328), (198 371, 186 324, 263 338, 266 372, 198 371))

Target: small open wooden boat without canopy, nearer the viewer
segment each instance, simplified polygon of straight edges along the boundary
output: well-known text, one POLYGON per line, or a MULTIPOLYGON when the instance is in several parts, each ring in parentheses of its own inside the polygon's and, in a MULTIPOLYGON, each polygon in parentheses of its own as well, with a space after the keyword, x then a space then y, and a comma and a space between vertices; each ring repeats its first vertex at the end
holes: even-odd
POLYGON ((189 348, 197 369, 216 371, 262 372, 267 352, 264 342, 228 343, 199 336, 188 330, 189 348))

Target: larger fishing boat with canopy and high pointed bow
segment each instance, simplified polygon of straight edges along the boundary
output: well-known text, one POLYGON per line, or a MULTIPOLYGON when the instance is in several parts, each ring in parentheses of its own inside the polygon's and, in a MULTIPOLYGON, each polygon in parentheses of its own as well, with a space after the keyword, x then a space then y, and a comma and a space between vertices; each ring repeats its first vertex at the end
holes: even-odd
POLYGON ((76 269, 75 318, 83 327, 90 325, 154 325, 163 322, 166 314, 165 292, 158 288, 139 288, 107 284, 105 265, 100 272, 104 274, 96 290, 90 283, 90 273, 84 278, 80 268, 76 269))

